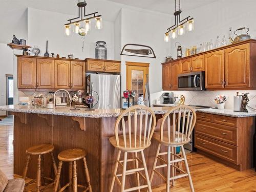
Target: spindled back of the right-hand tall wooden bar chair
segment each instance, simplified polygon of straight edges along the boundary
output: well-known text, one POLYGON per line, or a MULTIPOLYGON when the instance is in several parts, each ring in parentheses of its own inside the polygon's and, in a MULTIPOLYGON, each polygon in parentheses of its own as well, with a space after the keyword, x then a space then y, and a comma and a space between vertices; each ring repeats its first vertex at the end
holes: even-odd
POLYGON ((160 140, 162 142, 168 142, 176 145, 188 143, 195 123, 196 112, 193 108, 187 105, 176 106, 167 112, 162 118, 160 140), (167 131, 164 131, 166 121, 167 131))

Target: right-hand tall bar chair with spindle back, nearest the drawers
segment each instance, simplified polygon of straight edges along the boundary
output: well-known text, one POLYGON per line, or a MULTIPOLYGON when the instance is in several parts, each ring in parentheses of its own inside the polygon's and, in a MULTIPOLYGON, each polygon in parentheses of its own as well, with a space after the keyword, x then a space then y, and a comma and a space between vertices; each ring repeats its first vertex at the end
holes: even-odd
POLYGON ((170 181, 174 185, 175 179, 182 177, 188 177, 189 185, 191 191, 194 192, 193 182, 190 176, 188 163, 186 159, 186 154, 183 145, 190 141, 190 135, 194 129, 196 123, 196 112, 193 108, 187 105, 176 106, 168 113, 163 116, 160 132, 155 132, 153 138, 156 139, 159 144, 156 152, 156 158, 153 164, 153 169, 150 177, 152 182, 154 173, 163 178, 166 181, 166 191, 170 191, 170 181), (167 126, 167 130, 166 129, 167 126), (161 145, 167 146, 167 152, 159 153, 161 145), (181 147, 182 157, 176 155, 174 152, 174 147, 181 147), (161 156, 167 155, 167 161, 165 161, 161 156), (157 165, 157 161, 162 162, 157 165), (185 163, 186 172, 175 163, 182 162, 185 163), (167 167, 166 178, 157 171, 158 168, 167 167), (176 175, 175 170, 178 170, 181 174, 176 175), (172 174, 172 177, 170 177, 172 174))

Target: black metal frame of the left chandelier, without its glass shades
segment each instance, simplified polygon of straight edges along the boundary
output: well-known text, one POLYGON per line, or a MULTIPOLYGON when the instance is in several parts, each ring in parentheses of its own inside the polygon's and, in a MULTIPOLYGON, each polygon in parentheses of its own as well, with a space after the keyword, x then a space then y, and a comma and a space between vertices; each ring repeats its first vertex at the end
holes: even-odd
POLYGON ((85 0, 83 2, 80 2, 80 0, 78 0, 78 3, 77 3, 78 17, 68 19, 69 23, 65 24, 65 26, 66 25, 71 25, 71 24, 74 24, 74 23, 78 23, 78 22, 82 22, 83 20, 90 20, 90 19, 95 18, 95 17, 101 17, 100 14, 97 14, 98 12, 86 14, 86 6, 87 6, 87 3, 86 3, 85 0), (88 16, 90 16, 90 17, 88 17, 88 16), (85 18, 85 17, 87 17, 87 18, 85 18), (79 18, 80 18, 80 20, 75 20, 75 19, 79 19, 79 18), (75 20, 75 21, 72 22, 72 20, 75 20))

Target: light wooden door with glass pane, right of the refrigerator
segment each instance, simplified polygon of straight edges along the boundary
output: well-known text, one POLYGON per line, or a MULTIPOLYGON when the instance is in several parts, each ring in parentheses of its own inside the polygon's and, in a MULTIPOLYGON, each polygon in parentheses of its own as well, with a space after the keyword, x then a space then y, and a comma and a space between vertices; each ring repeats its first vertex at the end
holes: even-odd
POLYGON ((138 96, 145 96, 145 85, 148 79, 150 63, 126 62, 126 89, 135 91, 135 103, 138 96))

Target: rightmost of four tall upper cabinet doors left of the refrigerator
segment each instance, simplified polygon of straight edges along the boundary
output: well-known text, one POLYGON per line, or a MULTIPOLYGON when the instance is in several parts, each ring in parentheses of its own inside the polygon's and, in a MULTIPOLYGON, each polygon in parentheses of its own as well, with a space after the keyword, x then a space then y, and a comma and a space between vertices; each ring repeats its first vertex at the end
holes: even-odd
POLYGON ((82 61, 71 61, 71 89, 85 89, 86 63, 82 61))

